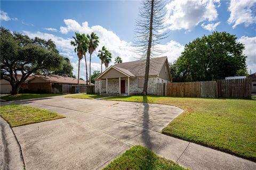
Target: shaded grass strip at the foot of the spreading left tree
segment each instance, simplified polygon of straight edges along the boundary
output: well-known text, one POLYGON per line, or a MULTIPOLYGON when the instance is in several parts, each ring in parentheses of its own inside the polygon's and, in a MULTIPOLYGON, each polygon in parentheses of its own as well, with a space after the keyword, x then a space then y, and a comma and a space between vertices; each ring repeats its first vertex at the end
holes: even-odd
POLYGON ((34 99, 34 98, 41 98, 41 97, 52 97, 52 96, 59 96, 62 94, 18 94, 18 95, 5 95, 1 96, 0 98, 6 101, 12 100, 23 100, 23 99, 34 99))

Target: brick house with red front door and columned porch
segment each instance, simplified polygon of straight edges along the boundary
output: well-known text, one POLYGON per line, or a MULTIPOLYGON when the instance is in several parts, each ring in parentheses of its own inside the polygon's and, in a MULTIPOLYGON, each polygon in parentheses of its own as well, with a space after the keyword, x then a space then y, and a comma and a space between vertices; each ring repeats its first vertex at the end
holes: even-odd
MULTIPOLYGON (((140 94, 143 91, 146 60, 110 66, 95 78, 95 92, 99 94, 140 94)), ((156 94, 156 84, 171 82, 167 57, 150 60, 148 94, 156 94)))

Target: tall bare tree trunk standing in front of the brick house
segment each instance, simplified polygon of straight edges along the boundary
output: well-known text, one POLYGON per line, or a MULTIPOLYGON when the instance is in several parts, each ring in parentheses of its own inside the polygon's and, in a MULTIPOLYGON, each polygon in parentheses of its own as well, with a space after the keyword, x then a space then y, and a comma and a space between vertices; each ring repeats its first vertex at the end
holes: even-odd
POLYGON ((149 74, 149 62, 150 62, 150 52, 151 52, 150 50, 151 50, 152 30, 153 30, 153 12, 154 12, 154 0, 151 1, 149 39, 148 39, 148 49, 147 49, 146 69, 145 69, 145 80, 144 80, 142 95, 147 95, 147 89, 148 89, 148 74, 149 74))

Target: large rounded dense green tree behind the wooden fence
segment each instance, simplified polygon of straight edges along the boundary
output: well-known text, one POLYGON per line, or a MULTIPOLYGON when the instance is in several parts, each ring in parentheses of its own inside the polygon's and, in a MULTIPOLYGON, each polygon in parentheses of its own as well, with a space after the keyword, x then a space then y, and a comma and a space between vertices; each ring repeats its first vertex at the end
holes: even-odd
POLYGON ((244 45, 235 35, 213 32, 186 44, 177 60, 183 81, 210 81, 243 75, 246 71, 244 45))

